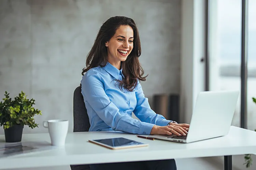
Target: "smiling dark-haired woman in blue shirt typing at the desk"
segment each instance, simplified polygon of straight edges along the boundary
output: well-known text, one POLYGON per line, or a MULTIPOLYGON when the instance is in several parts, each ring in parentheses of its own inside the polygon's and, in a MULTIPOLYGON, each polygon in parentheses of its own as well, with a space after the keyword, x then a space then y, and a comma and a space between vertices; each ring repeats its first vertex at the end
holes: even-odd
MULTIPOLYGON (((115 16, 101 26, 91 48, 81 81, 90 121, 89 131, 133 134, 186 135, 188 124, 177 124, 156 114, 143 94, 145 81, 139 63, 141 45, 135 22, 115 16), (133 119, 132 112, 140 119, 133 119)), ((98 169, 176 169, 175 160, 90 165, 98 169)))

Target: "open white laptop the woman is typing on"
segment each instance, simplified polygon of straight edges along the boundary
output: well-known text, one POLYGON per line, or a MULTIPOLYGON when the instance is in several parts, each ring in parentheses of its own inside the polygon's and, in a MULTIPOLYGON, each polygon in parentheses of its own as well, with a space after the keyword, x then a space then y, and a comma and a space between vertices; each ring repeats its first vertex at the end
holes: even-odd
POLYGON ((187 136, 150 135, 155 139, 189 143, 228 134, 239 91, 203 91, 197 96, 187 136))

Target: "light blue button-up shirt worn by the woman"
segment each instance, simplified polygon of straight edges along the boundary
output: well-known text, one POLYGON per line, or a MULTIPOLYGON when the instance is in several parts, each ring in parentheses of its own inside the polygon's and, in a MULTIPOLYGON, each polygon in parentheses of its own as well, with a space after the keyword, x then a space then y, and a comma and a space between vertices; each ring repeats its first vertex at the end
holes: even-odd
POLYGON ((115 80, 123 77, 122 69, 118 70, 110 63, 91 68, 83 76, 82 95, 90 121, 89 131, 150 134, 155 124, 166 126, 170 120, 150 108, 140 83, 132 92, 119 89, 115 80), (132 118, 132 112, 140 120, 132 118))

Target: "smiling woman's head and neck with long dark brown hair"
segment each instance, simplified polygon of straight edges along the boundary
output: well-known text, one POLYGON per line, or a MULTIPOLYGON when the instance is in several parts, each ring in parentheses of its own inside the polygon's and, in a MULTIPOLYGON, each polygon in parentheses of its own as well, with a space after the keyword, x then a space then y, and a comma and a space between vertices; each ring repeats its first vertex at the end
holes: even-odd
POLYGON ((123 69, 125 79, 116 80, 120 87, 132 91, 138 80, 146 80, 146 76, 142 77, 144 71, 139 63, 140 55, 140 37, 133 19, 111 17, 101 26, 82 74, 97 66, 104 67, 109 62, 118 70, 123 69))

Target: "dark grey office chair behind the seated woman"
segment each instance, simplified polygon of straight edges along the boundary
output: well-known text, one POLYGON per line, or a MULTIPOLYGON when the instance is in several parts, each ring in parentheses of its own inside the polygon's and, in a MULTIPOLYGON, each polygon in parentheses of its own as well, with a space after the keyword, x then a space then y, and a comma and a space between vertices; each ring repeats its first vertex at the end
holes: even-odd
MULTIPOLYGON (((73 95, 73 132, 88 132, 89 117, 81 94, 81 86, 76 87, 73 95)), ((71 170, 90 170, 89 165, 70 165, 71 170)))

